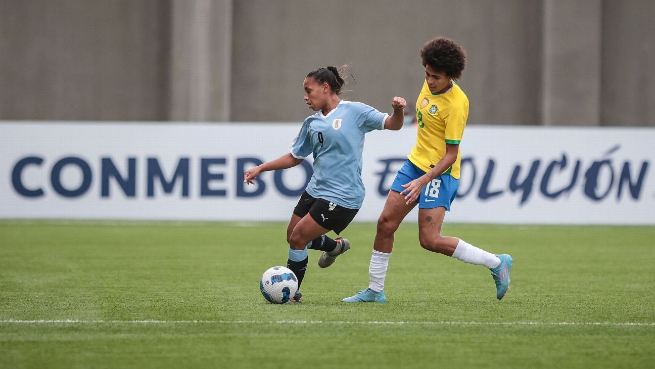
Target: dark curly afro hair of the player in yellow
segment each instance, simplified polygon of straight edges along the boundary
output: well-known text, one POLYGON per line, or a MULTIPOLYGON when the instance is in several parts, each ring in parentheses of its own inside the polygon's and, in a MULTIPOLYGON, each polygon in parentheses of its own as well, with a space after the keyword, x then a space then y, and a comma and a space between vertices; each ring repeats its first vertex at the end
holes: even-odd
POLYGON ((462 77, 466 68, 466 51, 455 41, 446 37, 435 37, 421 48, 423 66, 445 73, 452 79, 462 77))

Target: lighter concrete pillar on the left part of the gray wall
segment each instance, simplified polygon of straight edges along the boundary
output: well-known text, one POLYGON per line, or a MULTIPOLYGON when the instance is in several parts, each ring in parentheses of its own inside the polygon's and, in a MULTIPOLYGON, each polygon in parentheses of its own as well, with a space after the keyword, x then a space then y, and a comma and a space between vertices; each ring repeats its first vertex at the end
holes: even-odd
POLYGON ((169 118, 229 121, 232 1, 172 0, 169 118))

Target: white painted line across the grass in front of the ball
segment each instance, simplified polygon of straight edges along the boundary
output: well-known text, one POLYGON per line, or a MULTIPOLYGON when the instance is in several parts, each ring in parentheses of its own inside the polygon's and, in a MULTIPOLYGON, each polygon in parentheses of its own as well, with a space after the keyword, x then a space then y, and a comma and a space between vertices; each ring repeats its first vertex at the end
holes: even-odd
POLYGON ((421 322, 421 321, 347 321, 347 320, 0 320, 5 324, 377 324, 377 325, 452 325, 452 326, 655 326, 648 322, 421 322))

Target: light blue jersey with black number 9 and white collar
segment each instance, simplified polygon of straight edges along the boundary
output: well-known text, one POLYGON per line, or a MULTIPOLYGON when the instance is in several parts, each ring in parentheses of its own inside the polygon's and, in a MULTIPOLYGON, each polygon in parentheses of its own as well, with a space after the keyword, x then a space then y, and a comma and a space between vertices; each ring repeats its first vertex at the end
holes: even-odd
POLYGON ((339 102, 332 111, 321 111, 305 119, 291 142, 291 155, 303 159, 314 155, 314 175, 307 193, 350 209, 364 201, 362 151, 364 134, 383 130, 388 114, 361 102, 339 102))

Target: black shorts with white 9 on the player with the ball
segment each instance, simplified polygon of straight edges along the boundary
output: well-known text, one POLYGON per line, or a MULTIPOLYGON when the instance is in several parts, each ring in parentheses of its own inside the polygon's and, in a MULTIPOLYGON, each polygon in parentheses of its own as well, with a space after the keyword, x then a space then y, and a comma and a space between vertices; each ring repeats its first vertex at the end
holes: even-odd
POLYGON ((298 204, 293 209, 293 214, 303 218, 309 213, 318 225, 334 231, 338 235, 348 227, 358 211, 360 210, 344 208, 324 199, 316 199, 311 197, 307 191, 303 191, 298 204))

